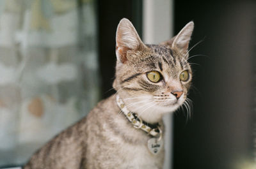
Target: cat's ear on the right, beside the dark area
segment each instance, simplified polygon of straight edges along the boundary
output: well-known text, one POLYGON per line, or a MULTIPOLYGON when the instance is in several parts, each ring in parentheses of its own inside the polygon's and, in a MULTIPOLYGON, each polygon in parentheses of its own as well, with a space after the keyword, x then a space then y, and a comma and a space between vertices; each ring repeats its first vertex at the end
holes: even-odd
POLYGON ((164 41, 160 45, 166 45, 172 47, 173 49, 177 48, 181 53, 186 54, 188 52, 189 41, 191 40, 191 35, 194 29, 194 22, 191 21, 186 26, 184 26, 181 31, 174 36, 171 40, 164 41))

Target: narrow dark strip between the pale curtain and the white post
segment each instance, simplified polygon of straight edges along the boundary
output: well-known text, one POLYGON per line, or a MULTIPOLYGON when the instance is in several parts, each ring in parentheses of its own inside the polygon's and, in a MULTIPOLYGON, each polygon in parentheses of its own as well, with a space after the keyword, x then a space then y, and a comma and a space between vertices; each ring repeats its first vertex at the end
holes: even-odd
POLYGON ((115 91, 112 83, 115 77, 115 36, 116 27, 122 18, 131 20, 141 36, 142 1, 97 1, 99 22, 99 64, 102 84, 102 96, 106 98, 115 91))

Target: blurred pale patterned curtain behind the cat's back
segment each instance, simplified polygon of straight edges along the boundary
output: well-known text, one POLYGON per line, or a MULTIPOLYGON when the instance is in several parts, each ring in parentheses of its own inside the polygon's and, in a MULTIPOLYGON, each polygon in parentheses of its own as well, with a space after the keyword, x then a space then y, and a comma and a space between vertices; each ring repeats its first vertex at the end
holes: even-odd
POLYGON ((96 29, 93 0, 0 0, 0 167, 98 101, 96 29))

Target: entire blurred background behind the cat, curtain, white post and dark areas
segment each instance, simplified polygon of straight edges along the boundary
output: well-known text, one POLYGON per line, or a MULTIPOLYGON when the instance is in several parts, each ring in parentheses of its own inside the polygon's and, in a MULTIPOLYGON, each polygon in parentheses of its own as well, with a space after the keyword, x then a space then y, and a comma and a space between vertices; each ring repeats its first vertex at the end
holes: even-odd
POLYGON ((255 169, 255 9, 253 0, 0 0, 0 168, 24 164, 115 92, 125 17, 145 43, 195 22, 193 114, 164 117, 164 169, 255 169))

